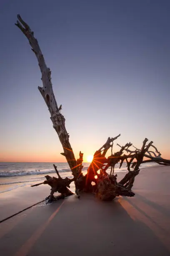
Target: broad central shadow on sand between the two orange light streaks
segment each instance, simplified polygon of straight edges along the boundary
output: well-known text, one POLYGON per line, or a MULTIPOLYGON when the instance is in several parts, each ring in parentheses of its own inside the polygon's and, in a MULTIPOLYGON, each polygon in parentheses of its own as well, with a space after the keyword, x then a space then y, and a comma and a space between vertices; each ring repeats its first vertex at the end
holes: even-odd
POLYGON ((118 200, 101 202, 86 195, 80 200, 67 200, 32 246, 29 256, 52 255, 55 248, 58 255, 69 256, 170 254, 153 231, 134 221, 118 200))

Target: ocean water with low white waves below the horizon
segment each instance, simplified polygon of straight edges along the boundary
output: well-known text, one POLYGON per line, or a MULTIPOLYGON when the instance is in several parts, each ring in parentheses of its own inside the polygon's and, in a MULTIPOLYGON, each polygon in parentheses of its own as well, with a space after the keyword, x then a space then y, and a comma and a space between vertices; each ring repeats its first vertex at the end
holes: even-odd
MULTIPOLYGON (((53 164, 57 166, 61 177, 72 178, 70 168, 67 163, 26 163, 26 162, 0 162, 0 193, 5 193, 19 187, 30 186, 36 183, 43 182, 45 175, 56 176, 53 164)), ((83 163, 82 172, 87 173, 87 168, 90 163, 83 163)), ((142 164, 140 169, 144 167, 158 165, 156 163, 142 164)), ((119 165, 115 166, 115 173, 126 172, 126 163, 123 163, 122 168, 119 165)), ((110 169, 108 169, 108 173, 110 169)))

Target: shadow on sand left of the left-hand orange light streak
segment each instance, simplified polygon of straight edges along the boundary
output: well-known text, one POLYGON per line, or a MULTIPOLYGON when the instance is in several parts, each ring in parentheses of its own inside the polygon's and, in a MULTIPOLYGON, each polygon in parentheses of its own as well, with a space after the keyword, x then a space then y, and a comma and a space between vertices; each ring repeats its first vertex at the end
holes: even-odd
POLYGON ((57 207, 60 207, 62 202, 63 200, 55 202, 52 209, 50 204, 44 206, 37 205, 0 224, 0 229, 2 228, 2 230, 8 229, 10 226, 12 227, 0 238, 1 255, 14 255, 15 251, 18 251, 18 248, 32 236, 32 233, 35 233, 41 226, 43 227, 44 223, 55 212, 57 207), (26 216, 23 218, 23 215, 26 216))

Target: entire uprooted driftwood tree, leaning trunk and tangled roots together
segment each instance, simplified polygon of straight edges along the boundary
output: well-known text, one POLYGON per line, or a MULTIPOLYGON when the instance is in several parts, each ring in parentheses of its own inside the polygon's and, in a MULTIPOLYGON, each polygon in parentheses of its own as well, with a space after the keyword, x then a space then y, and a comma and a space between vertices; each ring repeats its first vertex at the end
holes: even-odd
MULTIPOLYGON (((75 192, 78 197, 80 196, 79 192, 81 191, 93 192, 101 200, 113 200, 119 195, 133 197, 135 193, 132 192, 131 189, 133 187, 135 176, 140 172, 140 164, 156 162, 158 164, 170 165, 170 160, 161 158, 160 152, 155 146, 153 146, 153 141, 147 144, 147 138, 143 141, 141 149, 134 147, 134 150, 131 150, 130 148, 133 145, 130 142, 126 143, 125 146, 117 144, 120 146, 120 151, 113 154, 113 141, 120 136, 119 134, 115 138, 109 137, 106 143, 95 152, 92 163, 87 169, 87 174, 84 176, 82 174, 83 154, 80 151, 79 159, 75 159, 75 155, 69 142, 69 133, 67 133, 65 128, 65 118, 60 113, 62 105, 58 107, 52 90, 51 71, 45 64, 44 56, 42 55, 37 39, 34 37, 33 31, 31 31, 28 24, 25 23, 20 15, 17 15, 17 17, 18 20, 15 25, 18 26, 26 38, 28 38, 31 49, 37 57, 42 74, 41 79, 43 85, 43 87, 38 87, 38 89, 45 100, 50 112, 50 119, 52 121, 53 128, 57 132, 62 144, 63 153, 61 154, 65 156, 73 175, 72 179, 62 179, 57 171, 57 166, 54 165, 58 178, 47 175, 45 176, 46 180, 40 183, 50 185, 51 193, 48 199, 50 201, 55 199, 53 196, 54 192, 61 193, 59 198, 72 195, 73 193, 68 189, 72 181, 75 182, 75 192), (153 150, 150 150, 150 148, 153 150), (106 158, 106 153, 109 149, 111 149, 111 154, 106 158), (147 158, 147 160, 143 160, 144 157, 147 158), (115 164, 120 162, 121 168, 124 161, 127 163, 128 173, 120 182, 117 182, 117 175, 114 175, 115 164), (110 173, 108 173, 108 168, 110 168, 110 173)), ((32 187, 40 184, 35 184, 32 187)))

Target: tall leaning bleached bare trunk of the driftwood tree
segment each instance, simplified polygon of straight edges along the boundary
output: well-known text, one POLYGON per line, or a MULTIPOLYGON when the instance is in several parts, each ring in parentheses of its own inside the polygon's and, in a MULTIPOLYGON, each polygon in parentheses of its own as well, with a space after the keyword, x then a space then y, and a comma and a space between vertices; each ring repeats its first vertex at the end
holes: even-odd
POLYGON ((42 79, 42 85, 43 85, 43 87, 38 87, 38 89, 45 100, 45 103, 51 115, 50 119, 52 120, 53 128, 57 132, 60 142, 62 144, 64 153, 61 153, 61 154, 65 156, 65 158, 67 159, 70 169, 72 170, 72 174, 76 178, 78 175, 77 167, 79 165, 77 166, 77 161, 75 159, 75 155, 72 151, 72 147, 69 142, 69 134, 67 133, 65 128, 65 118, 60 113, 61 105, 58 108, 57 102, 55 100, 55 96, 52 90, 51 71, 45 64, 44 56, 42 55, 37 39, 34 37, 33 31, 31 31, 28 24, 25 23, 25 21, 20 17, 20 15, 17 15, 17 17, 18 17, 18 20, 15 25, 18 26, 18 28, 20 28, 20 30, 28 38, 31 49, 35 53, 35 56, 37 57, 37 60, 38 60, 38 64, 42 74, 41 79, 42 79))

